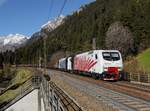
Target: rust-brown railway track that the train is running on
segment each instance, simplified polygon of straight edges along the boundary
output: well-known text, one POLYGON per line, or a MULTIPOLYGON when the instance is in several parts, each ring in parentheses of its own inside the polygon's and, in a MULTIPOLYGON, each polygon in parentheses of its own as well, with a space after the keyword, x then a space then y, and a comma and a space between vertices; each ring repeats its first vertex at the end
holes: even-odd
POLYGON ((137 85, 137 84, 133 84, 130 82, 122 82, 122 81, 118 81, 118 82, 106 82, 106 81, 102 81, 102 80, 95 80, 89 77, 84 77, 84 76, 78 76, 78 75, 74 75, 74 74, 69 74, 67 73, 68 76, 72 76, 74 78, 78 78, 80 80, 83 81, 88 81, 94 84, 100 84, 105 88, 120 92, 120 93, 124 93, 136 98, 140 98, 146 101, 150 102, 150 87, 149 86, 144 86, 144 85, 137 85))

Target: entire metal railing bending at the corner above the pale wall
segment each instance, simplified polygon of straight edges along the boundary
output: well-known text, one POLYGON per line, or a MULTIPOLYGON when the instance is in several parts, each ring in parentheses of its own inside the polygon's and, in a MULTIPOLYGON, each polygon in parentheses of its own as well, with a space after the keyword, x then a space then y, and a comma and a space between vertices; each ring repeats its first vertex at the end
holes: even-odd
POLYGON ((82 111, 81 107, 69 95, 57 87, 55 83, 49 82, 39 75, 34 75, 23 83, 18 88, 17 95, 2 105, 0 111, 9 108, 34 89, 39 89, 38 111, 42 111, 41 100, 44 102, 44 111, 82 111))

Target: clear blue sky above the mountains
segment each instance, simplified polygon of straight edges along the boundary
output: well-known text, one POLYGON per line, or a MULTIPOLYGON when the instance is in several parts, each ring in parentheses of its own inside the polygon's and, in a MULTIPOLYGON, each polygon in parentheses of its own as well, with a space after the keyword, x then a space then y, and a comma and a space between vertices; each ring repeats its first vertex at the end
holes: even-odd
MULTIPOLYGON (((67 0, 62 14, 71 14, 81 5, 92 1, 67 0)), ((64 0, 0 0, 0 36, 15 33, 31 36, 49 19, 58 16, 63 2, 64 0)))

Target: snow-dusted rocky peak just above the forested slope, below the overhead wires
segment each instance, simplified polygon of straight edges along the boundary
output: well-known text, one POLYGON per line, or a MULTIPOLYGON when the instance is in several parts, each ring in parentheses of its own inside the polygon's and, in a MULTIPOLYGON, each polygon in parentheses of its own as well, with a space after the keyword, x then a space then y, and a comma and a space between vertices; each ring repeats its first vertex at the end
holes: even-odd
POLYGON ((52 31, 56 29, 59 25, 63 24, 65 16, 61 15, 60 17, 48 21, 46 24, 42 25, 41 29, 46 29, 47 31, 52 31))

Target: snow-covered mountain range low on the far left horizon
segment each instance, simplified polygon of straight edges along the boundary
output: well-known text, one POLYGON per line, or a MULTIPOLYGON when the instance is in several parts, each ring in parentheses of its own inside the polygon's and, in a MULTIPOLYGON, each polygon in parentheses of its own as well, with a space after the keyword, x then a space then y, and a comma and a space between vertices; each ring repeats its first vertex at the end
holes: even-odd
POLYGON ((6 50, 14 50, 28 40, 27 36, 21 34, 9 34, 0 37, 0 52, 6 50))

